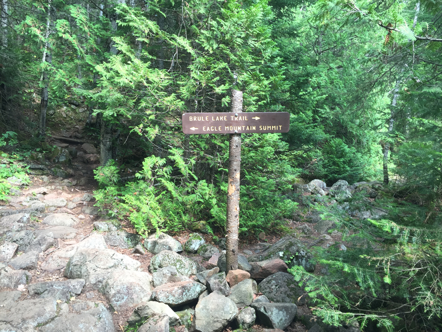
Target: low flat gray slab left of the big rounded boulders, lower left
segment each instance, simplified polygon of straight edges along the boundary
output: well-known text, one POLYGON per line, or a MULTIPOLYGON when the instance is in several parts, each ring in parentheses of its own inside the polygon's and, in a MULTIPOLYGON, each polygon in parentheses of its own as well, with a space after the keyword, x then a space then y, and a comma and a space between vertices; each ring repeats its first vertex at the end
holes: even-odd
POLYGON ((29 295, 40 295, 40 299, 53 298, 64 302, 69 301, 72 294, 80 294, 84 286, 84 279, 72 279, 63 281, 47 281, 30 284, 29 295))

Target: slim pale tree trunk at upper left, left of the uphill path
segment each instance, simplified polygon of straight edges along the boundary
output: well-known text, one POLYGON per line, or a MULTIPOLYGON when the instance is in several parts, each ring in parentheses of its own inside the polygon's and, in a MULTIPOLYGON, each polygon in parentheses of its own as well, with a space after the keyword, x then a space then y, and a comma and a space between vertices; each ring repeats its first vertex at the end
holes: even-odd
MULTIPOLYGON (((51 26, 51 1, 49 1, 49 8, 48 8, 48 17, 46 20, 46 34, 45 34, 45 49, 43 51, 43 57, 42 57, 42 63, 48 62, 49 64, 52 63, 52 55, 48 52, 49 48, 49 34, 50 34, 50 27, 51 26)), ((48 110, 48 101, 49 101, 49 92, 48 92, 48 86, 49 86, 49 77, 48 77, 48 71, 46 69, 43 69, 43 72, 41 73, 40 82, 42 84, 41 89, 41 100, 40 100, 40 123, 39 123, 39 131, 40 136, 46 136, 46 112, 48 110)))

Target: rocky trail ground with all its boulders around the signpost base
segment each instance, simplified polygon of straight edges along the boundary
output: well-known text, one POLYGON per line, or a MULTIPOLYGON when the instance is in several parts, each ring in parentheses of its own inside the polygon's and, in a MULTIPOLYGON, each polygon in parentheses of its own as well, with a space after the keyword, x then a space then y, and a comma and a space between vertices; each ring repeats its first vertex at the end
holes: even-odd
MULTIPOLYGON (((142 239, 131 225, 100 214, 93 160, 80 153, 69 168, 57 168, 68 178, 51 172, 31 176, 28 186, 16 183, 1 206, 0 331, 359 331, 316 321, 287 273, 287 263, 314 271, 311 245, 346 250, 339 232, 325 234, 332 225, 318 215, 292 221, 298 233, 241 244, 239 270, 226 275, 223 241, 196 233, 142 239)), ((328 189, 301 187, 318 200, 328 189)))

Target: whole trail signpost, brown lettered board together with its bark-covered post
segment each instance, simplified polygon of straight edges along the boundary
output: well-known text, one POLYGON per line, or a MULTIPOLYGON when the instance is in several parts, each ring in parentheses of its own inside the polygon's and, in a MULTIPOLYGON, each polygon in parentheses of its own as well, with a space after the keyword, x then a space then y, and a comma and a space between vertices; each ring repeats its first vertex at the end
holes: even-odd
POLYGON ((185 134, 230 134, 227 184, 226 268, 238 269, 238 229, 241 171, 241 133, 289 131, 287 112, 243 113, 243 92, 232 90, 230 113, 184 113, 185 134))

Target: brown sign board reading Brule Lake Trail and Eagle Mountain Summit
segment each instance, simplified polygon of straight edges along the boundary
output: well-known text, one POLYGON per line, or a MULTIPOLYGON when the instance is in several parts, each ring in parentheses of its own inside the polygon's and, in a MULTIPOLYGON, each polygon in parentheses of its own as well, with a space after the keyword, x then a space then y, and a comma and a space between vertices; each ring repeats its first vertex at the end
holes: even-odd
POLYGON ((185 134, 286 133, 287 112, 184 113, 185 134))

